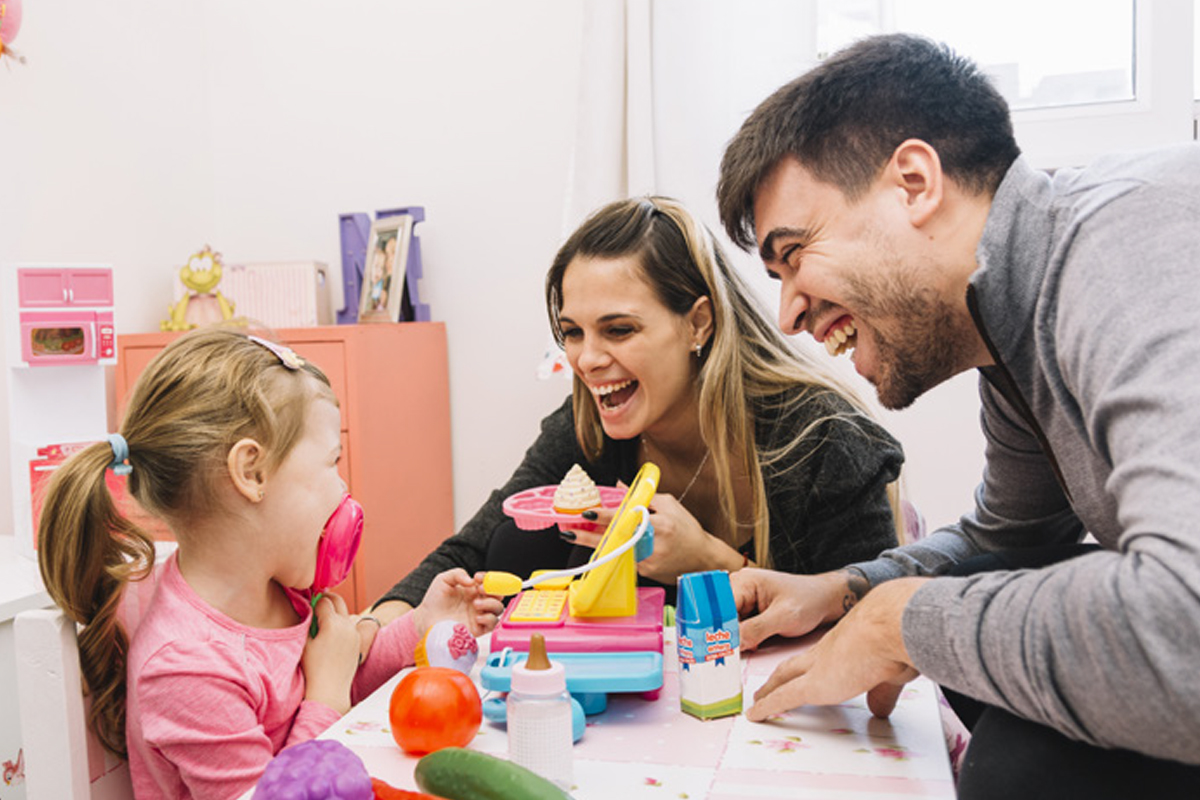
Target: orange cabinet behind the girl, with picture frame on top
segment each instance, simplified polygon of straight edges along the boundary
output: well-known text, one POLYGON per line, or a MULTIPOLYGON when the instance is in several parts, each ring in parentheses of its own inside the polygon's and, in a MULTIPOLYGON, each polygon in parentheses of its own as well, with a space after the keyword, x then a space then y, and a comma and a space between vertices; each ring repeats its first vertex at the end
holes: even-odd
MULTIPOLYGON (((275 335, 324 371, 342 407, 343 477, 366 524, 354 571, 337 591, 359 612, 454 533, 445 325, 326 325, 275 335)), ((116 337, 118 419, 138 375, 178 336, 116 337)), ((169 536, 161 524, 149 527, 169 536)))

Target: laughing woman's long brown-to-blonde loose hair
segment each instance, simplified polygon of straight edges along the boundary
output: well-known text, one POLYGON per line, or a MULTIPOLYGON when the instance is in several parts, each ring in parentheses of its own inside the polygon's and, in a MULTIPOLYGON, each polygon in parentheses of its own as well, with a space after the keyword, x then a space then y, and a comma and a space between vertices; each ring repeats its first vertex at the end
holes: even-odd
MULTIPOLYGON (((665 197, 611 203, 594 212, 566 240, 546 275, 546 308, 551 329, 563 344, 559 312, 563 276, 578 257, 636 257, 647 284, 662 305, 685 314, 700 297, 713 307, 713 335, 704 344, 696 373, 700 429, 716 469, 718 499, 730 521, 752 525, 755 561, 770 565, 769 519, 763 468, 784 462, 829 417, 810 420, 805 428, 769 452, 755 441, 755 410, 787 413, 803 405, 814 391, 834 391, 856 409, 850 416, 870 416, 858 392, 827 365, 793 348, 769 321, 750 287, 730 267, 712 233, 682 204, 665 197), (802 391, 794 391, 803 386, 802 391), (739 510, 733 476, 749 476, 752 507, 739 510)), ((595 401, 575 377, 575 432, 589 459, 604 449, 604 428, 595 401)), ((900 530, 899 497, 889 489, 893 517, 900 530)), ((736 546, 736 541, 730 541, 736 546)))

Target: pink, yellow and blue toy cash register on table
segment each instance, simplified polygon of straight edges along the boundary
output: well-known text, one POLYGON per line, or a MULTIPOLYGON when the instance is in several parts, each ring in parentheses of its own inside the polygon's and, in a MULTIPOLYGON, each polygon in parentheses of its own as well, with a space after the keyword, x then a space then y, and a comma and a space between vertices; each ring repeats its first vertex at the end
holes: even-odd
POLYGON ((508 691, 511 667, 526 657, 534 633, 545 638, 552 660, 563 661, 566 688, 587 714, 604 710, 605 692, 661 688, 665 591, 637 585, 637 560, 653 549, 647 506, 658 483, 659 468, 643 464, 583 566, 535 572, 528 581, 485 576, 488 594, 520 593, 492 631, 480 675, 485 688, 508 691))

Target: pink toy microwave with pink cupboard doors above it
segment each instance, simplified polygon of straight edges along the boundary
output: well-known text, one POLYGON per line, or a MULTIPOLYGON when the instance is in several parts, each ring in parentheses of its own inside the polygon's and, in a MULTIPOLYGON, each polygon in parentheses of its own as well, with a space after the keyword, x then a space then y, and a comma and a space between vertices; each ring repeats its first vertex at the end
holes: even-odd
POLYGON ((17 291, 24 363, 116 363, 112 267, 19 269, 17 291))

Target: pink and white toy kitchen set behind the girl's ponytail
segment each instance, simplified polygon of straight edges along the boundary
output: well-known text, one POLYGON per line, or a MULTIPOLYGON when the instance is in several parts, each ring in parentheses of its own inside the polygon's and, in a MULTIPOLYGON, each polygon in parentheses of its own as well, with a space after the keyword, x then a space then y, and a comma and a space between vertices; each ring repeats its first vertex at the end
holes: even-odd
POLYGON ((16 552, 36 557, 36 493, 71 445, 108 432, 116 363, 113 267, 10 264, 0 271, 16 552))

